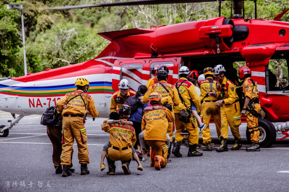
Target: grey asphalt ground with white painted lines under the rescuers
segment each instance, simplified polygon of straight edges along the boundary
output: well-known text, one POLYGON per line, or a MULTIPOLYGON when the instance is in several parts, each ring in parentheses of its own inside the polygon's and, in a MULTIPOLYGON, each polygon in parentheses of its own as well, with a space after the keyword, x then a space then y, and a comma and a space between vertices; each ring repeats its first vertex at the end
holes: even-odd
MULTIPOLYGON (((11 117, 0 113, 0 124, 11 117)), ((210 124, 213 152, 204 151, 201 157, 186 157, 188 148, 182 146, 182 158, 172 155, 172 162, 160 171, 150 167, 149 159, 130 164, 131 175, 124 175, 121 163, 116 162, 116 175, 100 171, 102 146, 109 135, 101 130, 104 118, 88 119, 90 174, 80 175, 77 146, 74 144, 72 176, 55 174, 52 163, 52 145, 46 127, 40 125, 40 116, 27 116, 0 138, 0 191, 289 191, 289 139, 275 142, 260 152, 246 152, 246 124, 240 126, 243 148, 239 151, 217 153, 219 146, 214 124, 210 124), (283 172, 283 173, 282 173, 283 172), (24 182, 23 182, 24 181, 24 182), (25 183, 25 186, 24 184, 25 183)), ((276 125, 276 124, 275 124, 276 125)), ((230 131, 229 131, 230 132, 230 131)), ((281 138, 277 135, 277 139, 281 138)), ((229 133, 228 147, 234 143, 229 133)), ((105 164, 106 161, 105 161, 105 164)))

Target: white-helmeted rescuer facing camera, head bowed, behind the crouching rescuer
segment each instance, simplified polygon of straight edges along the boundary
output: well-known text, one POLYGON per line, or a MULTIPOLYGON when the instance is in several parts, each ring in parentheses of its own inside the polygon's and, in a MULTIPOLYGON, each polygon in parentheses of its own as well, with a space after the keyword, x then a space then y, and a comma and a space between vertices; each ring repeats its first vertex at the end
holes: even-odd
POLYGON ((112 94, 110 102, 110 112, 118 111, 120 106, 124 104, 127 98, 135 95, 135 91, 129 90, 129 81, 127 79, 121 79, 120 84, 118 84, 120 90, 115 91, 112 94))

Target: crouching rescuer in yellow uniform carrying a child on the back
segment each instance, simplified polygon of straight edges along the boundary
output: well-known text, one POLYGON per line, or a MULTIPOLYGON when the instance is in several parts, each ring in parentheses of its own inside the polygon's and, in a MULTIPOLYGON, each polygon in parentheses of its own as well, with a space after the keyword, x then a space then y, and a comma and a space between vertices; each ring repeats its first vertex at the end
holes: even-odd
MULTIPOLYGON (((122 105, 119 109, 122 119, 127 121, 131 113, 128 105, 122 105)), ((113 114, 112 114, 113 115, 113 114)), ((110 115, 111 116, 111 115, 110 115)), ((111 117, 111 119, 115 119, 111 117)), ((126 175, 131 174, 129 163, 132 161, 132 149, 136 142, 135 129, 128 124, 112 123, 108 124, 104 121, 101 129, 110 134, 110 147, 107 150, 107 175, 115 175, 115 161, 121 161, 121 168, 126 175)))

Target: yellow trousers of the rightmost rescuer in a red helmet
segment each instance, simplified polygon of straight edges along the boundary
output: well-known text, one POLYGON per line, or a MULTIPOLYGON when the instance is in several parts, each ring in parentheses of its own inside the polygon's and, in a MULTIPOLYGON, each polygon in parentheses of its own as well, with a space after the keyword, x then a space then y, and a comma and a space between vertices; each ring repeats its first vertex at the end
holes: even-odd
MULTIPOLYGON (((255 108, 254 110, 257 113, 260 113, 261 107, 260 104, 255 104, 255 108)), ((259 142, 259 135, 260 135, 260 131, 259 131, 259 127, 258 127, 258 118, 253 116, 252 113, 249 113, 248 111, 246 112, 246 120, 247 120, 247 129, 249 131, 250 137, 251 137, 251 141, 253 143, 258 143, 259 142)))

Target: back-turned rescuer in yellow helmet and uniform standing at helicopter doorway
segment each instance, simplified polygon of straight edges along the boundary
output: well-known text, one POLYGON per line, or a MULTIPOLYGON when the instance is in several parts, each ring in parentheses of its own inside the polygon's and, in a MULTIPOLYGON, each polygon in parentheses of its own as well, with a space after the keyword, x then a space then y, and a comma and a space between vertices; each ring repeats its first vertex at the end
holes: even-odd
POLYGON ((203 151, 213 151, 212 146, 211 146, 212 139, 211 139, 209 124, 210 124, 210 119, 212 116, 216 125, 217 135, 219 138, 221 134, 221 113, 220 113, 220 107, 215 106, 215 102, 219 100, 220 94, 217 91, 218 82, 213 79, 213 68, 212 67, 204 68, 204 75, 206 79, 199 81, 200 90, 201 90, 201 96, 200 96, 201 116, 200 117, 203 118, 203 122, 207 126, 201 132, 201 135, 203 138, 203 144, 205 146, 205 149, 203 149, 203 151), (214 93, 214 96, 209 96, 208 92, 214 93))

